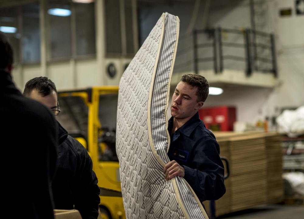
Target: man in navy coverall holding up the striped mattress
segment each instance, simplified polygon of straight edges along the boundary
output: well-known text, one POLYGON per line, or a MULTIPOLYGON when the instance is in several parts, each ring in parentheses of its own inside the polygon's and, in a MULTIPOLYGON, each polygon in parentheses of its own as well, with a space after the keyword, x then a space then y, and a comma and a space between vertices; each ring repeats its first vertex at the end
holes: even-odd
POLYGON ((203 76, 181 77, 172 96, 172 117, 168 123, 171 161, 164 167, 166 180, 183 177, 201 202, 217 200, 226 192, 219 144, 199 119, 198 110, 208 94, 209 83, 203 76))

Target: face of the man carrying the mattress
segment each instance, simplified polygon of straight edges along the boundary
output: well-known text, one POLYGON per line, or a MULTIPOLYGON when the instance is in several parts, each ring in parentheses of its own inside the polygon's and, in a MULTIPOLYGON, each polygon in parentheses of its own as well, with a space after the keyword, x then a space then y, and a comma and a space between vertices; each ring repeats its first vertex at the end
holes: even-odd
POLYGON ((177 120, 187 122, 204 104, 204 102, 196 102, 197 87, 192 88, 191 85, 180 82, 175 88, 171 101, 171 115, 177 120))

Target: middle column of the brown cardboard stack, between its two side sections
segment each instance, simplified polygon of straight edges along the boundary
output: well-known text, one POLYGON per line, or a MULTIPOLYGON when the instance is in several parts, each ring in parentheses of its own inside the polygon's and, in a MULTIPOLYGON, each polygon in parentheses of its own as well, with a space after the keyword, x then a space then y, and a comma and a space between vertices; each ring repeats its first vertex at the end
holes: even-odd
POLYGON ((259 135, 230 138, 231 210, 267 202, 265 140, 259 135))

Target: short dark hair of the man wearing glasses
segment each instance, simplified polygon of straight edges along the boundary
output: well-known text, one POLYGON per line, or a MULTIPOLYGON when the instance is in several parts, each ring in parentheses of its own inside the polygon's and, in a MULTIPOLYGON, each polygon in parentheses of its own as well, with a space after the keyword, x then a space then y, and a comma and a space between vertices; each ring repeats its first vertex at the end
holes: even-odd
POLYGON ((57 94, 57 89, 54 82, 47 77, 36 77, 26 82, 23 95, 29 97, 34 89, 38 90, 38 93, 40 93, 42 96, 49 95, 53 90, 57 94))

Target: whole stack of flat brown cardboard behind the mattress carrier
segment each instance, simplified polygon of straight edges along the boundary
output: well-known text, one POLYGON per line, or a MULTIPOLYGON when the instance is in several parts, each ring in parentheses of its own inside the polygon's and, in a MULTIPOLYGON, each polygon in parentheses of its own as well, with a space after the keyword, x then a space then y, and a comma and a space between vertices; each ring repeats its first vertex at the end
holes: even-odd
MULTIPOLYGON (((264 132, 214 134, 220 156, 226 157, 230 166, 226 194, 215 201, 215 216, 280 202, 284 192, 281 136, 264 132)), ((210 215, 209 201, 203 204, 210 215)))

